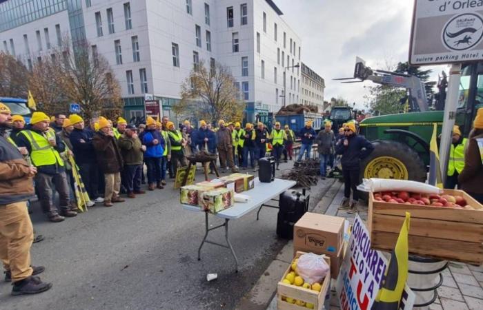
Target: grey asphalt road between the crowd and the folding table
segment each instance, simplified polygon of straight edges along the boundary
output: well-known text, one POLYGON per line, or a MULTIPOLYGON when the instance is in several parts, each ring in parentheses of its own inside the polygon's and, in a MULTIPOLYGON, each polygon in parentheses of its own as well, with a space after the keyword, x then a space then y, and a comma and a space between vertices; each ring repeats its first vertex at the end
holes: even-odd
MULTIPOLYGON (((282 164, 282 168, 289 167, 282 164)), ((201 171, 197 181, 202 180, 201 171)), ((331 182, 312 188, 311 205, 331 182)), ((204 214, 185 211, 168 182, 114 207, 92 207, 63 223, 49 223, 37 203, 32 222, 46 237, 32 246, 32 265, 52 289, 34 296, 10 296, 0 281, 0 309, 233 309, 286 244, 275 234, 277 210, 264 208, 230 222, 230 239, 240 261, 235 273, 228 249, 204 245, 204 214), (218 279, 206 281, 207 273, 218 279)), ((210 216, 210 225, 222 220, 210 216)), ((223 229, 212 239, 224 241, 223 229)))

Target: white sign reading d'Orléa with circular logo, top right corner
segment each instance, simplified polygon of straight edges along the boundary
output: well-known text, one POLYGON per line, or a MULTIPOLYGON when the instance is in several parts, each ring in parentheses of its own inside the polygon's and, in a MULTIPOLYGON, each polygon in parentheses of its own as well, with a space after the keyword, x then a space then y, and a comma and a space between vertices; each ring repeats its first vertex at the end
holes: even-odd
POLYGON ((483 1, 415 0, 411 65, 483 60, 483 1))

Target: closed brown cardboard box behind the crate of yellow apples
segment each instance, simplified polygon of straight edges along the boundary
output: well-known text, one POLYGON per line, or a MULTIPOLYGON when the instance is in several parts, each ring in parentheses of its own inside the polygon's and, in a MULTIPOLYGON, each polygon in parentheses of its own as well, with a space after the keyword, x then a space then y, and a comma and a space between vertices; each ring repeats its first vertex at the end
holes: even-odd
POLYGON ((307 212, 293 227, 293 247, 337 256, 344 241, 345 218, 307 212))

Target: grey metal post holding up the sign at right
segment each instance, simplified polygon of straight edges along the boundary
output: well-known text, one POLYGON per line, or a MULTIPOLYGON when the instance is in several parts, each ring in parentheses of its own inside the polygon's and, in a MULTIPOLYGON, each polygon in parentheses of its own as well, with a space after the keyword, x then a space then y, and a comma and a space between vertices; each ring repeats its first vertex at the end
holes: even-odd
POLYGON ((455 125, 458 94, 460 92, 460 78, 461 63, 453 63, 449 71, 448 94, 446 96, 446 103, 444 103, 444 118, 440 142, 440 167, 443 184, 446 181, 446 172, 448 169, 449 149, 452 142, 451 138, 453 126, 455 125))

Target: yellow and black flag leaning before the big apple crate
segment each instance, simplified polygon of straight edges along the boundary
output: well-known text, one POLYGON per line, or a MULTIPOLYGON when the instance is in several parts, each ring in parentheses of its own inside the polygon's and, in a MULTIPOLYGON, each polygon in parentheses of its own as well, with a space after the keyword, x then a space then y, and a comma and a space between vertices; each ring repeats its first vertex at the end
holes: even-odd
POLYGON ((397 310, 402 298, 402 292, 408 278, 408 233, 411 214, 406 212, 406 219, 402 223, 396 246, 391 254, 391 261, 386 267, 382 287, 377 293, 371 310, 397 310))

